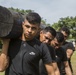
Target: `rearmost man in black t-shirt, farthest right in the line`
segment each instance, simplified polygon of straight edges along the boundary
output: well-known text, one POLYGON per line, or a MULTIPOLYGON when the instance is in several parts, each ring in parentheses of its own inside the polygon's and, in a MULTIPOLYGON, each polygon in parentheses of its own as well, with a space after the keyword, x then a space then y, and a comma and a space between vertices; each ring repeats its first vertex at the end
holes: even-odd
MULTIPOLYGON (((71 65, 71 56, 73 55, 73 52, 74 52, 75 48, 74 48, 74 46, 73 46, 73 44, 71 42, 66 41, 68 39, 69 35, 70 35, 70 30, 69 30, 68 27, 62 27, 60 29, 60 32, 64 35, 64 43, 63 43, 62 47, 65 49, 65 51, 67 53, 69 66, 70 66, 71 71, 73 73, 73 69, 72 69, 72 65, 71 65)), ((63 72, 64 72, 64 70, 63 70, 63 72)))

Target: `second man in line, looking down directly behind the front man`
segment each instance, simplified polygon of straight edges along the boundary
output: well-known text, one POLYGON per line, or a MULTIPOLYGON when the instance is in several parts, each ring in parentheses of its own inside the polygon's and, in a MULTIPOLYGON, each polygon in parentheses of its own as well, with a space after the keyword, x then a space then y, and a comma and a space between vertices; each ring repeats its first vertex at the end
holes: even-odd
MULTIPOLYGON (((51 47, 49 45, 50 41, 52 41, 55 36, 56 36, 56 31, 52 27, 48 26, 48 27, 46 27, 46 28, 44 28, 43 30, 40 31, 39 40, 41 42, 47 44, 47 46, 49 48, 49 53, 52 57, 52 64, 53 64, 53 67, 54 67, 55 75, 60 75, 59 69, 58 69, 57 63, 56 63, 55 50, 54 50, 53 47, 51 47)), ((42 60, 40 60, 39 66, 40 66, 40 68, 39 68, 40 75, 47 75, 47 71, 46 71, 46 68, 45 68, 42 60)))

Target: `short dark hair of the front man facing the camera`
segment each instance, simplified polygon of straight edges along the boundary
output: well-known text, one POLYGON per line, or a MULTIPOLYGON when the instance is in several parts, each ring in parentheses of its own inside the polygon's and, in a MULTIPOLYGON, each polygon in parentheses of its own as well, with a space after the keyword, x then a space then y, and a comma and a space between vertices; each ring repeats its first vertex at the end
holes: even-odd
POLYGON ((26 15, 26 20, 31 24, 39 24, 41 23, 41 17, 38 13, 31 12, 26 15))

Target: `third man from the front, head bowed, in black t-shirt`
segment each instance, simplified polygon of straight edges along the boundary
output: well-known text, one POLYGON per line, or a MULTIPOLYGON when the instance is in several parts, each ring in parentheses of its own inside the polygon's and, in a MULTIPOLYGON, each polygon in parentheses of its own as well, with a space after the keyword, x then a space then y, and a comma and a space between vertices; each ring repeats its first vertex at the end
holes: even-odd
POLYGON ((60 71, 60 75, 63 75, 61 71, 62 62, 64 64, 66 75, 72 75, 65 50, 61 47, 64 42, 64 36, 61 32, 57 32, 56 37, 51 41, 51 46, 55 48, 56 61, 60 71))

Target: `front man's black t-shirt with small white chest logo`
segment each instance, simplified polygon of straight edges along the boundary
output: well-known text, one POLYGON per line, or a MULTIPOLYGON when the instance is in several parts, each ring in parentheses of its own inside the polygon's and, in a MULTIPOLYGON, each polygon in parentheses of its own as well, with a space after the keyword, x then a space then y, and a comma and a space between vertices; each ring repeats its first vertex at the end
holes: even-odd
POLYGON ((13 50, 10 48, 12 61, 8 75, 39 75, 39 60, 42 59, 45 64, 52 62, 48 47, 40 41, 21 41, 19 45, 18 49, 16 44, 15 47, 12 46, 19 51, 16 55, 12 54, 13 50))

